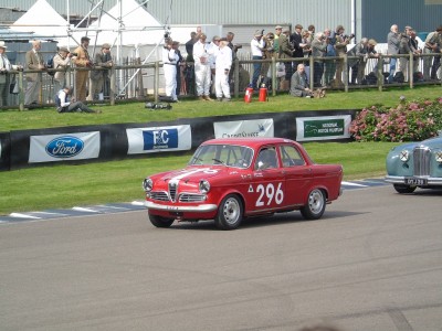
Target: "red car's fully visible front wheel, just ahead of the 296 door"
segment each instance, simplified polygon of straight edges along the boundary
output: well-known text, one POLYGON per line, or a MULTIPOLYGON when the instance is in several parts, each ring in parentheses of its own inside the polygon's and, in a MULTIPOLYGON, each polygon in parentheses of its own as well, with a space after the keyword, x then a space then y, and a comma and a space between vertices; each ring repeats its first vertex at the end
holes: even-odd
POLYGON ((227 195, 218 209, 214 224, 221 229, 234 229, 240 226, 243 216, 243 205, 235 194, 227 195))

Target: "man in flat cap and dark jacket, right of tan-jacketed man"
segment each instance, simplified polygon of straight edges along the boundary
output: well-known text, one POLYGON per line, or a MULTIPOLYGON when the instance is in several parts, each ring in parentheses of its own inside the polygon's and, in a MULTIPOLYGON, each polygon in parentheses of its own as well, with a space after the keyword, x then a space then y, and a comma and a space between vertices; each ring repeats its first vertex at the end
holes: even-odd
POLYGON ((91 88, 88 100, 104 100, 109 96, 109 68, 114 65, 110 55, 110 45, 104 43, 102 51, 95 54, 95 70, 91 72, 91 88))

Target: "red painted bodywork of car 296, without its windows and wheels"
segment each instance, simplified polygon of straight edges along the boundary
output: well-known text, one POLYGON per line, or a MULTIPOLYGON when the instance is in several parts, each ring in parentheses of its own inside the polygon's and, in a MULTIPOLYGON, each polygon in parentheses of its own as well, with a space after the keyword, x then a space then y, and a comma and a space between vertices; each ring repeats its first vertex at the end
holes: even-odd
POLYGON ((152 188, 146 194, 149 214, 181 221, 213 220, 222 200, 236 194, 243 203, 244 216, 253 216, 297 210, 308 203, 314 189, 325 192, 327 203, 340 195, 343 167, 315 164, 305 149, 290 139, 212 139, 203 146, 244 146, 253 154, 245 169, 223 163, 192 164, 150 175, 152 188), (276 168, 255 170, 259 152, 265 148, 276 151, 276 168), (287 164, 283 150, 296 151, 298 164, 287 164), (201 181, 210 183, 208 193, 199 191, 201 181))

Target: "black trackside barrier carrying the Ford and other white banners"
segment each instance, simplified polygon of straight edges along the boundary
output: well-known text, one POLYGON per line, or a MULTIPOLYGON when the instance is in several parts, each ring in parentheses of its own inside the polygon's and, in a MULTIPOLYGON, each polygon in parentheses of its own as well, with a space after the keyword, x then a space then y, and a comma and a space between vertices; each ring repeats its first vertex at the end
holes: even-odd
POLYGON ((155 158, 196 149, 209 138, 349 140, 356 110, 304 110, 187 118, 169 122, 76 126, 0 132, 0 171, 50 164, 155 158))

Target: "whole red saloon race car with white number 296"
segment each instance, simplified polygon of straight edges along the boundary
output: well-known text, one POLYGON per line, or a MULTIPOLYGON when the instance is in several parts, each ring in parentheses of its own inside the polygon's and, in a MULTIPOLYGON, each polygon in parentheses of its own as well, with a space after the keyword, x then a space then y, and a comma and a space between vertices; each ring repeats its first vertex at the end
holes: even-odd
POLYGON ((182 170, 146 178, 150 222, 214 220, 222 229, 244 217, 299 210, 317 220, 340 193, 343 167, 315 164, 297 142, 283 138, 212 139, 182 170))

